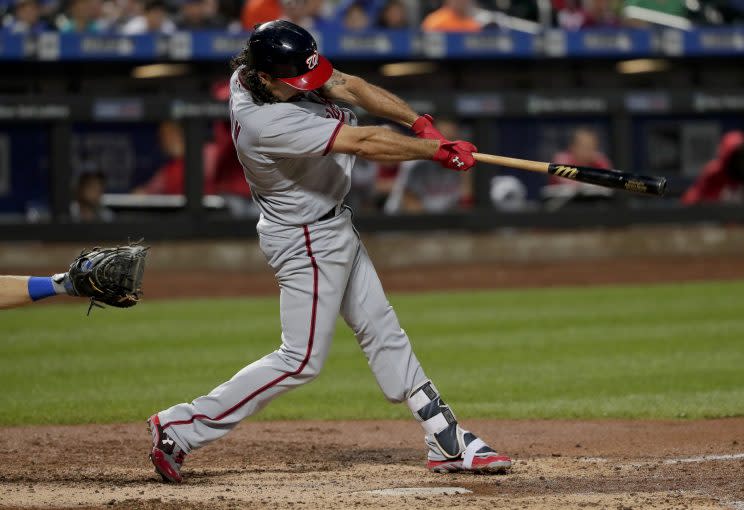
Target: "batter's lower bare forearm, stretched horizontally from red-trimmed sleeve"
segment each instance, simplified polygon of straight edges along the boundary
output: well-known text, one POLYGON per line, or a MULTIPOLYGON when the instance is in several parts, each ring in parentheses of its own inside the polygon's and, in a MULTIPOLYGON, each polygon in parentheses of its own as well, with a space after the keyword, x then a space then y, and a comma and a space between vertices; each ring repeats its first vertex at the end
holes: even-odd
POLYGON ((437 140, 422 140, 404 136, 382 127, 349 128, 353 137, 344 137, 343 130, 334 144, 334 152, 355 154, 370 161, 392 163, 416 159, 432 159, 439 148, 437 140))

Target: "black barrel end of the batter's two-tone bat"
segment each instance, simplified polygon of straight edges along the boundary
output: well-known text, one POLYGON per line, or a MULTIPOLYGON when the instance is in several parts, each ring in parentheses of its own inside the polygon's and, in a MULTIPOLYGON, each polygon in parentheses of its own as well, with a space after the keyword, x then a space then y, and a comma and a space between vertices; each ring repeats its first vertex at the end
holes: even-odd
POLYGON ((585 166, 558 165, 556 163, 550 163, 548 173, 574 181, 645 195, 663 196, 666 192, 666 179, 664 177, 649 177, 619 170, 602 170, 585 166))

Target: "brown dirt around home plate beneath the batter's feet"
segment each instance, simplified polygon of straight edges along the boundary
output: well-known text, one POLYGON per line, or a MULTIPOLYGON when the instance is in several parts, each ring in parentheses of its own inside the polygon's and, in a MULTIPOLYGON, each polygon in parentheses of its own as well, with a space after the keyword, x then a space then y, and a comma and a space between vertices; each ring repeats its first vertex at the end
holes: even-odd
POLYGON ((153 472, 144 422, 7 427, 0 507, 744 509, 744 418, 464 422, 510 474, 427 472, 413 420, 245 422, 181 485, 153 472))

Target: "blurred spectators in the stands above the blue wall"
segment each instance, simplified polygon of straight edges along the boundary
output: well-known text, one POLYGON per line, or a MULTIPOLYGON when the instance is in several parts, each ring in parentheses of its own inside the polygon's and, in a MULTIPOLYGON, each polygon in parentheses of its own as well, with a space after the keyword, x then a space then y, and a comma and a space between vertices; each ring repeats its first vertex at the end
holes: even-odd
POLYGON ((0 0, 0 26, 15 33, 239 31, 277 18, 346 31, 684 27, 744 22, 744 0, 0 0))

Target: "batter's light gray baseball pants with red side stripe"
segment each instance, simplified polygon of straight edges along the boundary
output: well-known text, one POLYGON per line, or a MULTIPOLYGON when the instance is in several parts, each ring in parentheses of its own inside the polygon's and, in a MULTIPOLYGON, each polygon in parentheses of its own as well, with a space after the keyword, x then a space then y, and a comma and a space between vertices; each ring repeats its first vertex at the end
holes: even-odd
MULTIPOLYGON (((258 223, 261 250, 280 288, 281 347, 209 395, 158 413, 187 453, 227 434, 323 367, 339 312, 356 335, 377 383, 402 402, 426 381, 351 222, 351 212, 305 226, 258 223)), ((250 341, 250 339, 249 339, 250 341)))

